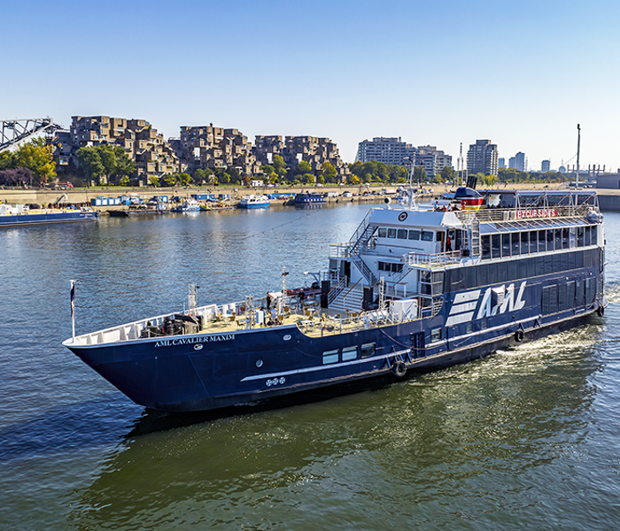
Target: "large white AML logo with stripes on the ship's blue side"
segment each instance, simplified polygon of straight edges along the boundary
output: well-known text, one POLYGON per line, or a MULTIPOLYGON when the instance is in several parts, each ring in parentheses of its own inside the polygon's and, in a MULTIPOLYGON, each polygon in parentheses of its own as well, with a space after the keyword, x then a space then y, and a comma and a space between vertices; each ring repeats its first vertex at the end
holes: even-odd
POLYGON ((478 307, 478 299, 482 293, 482 289, 475 289, 466 293, 458 293, 454 297, 450 315, 446 319, 446 327, 452 327, 460 323, 465 323, 473 319, 482 319, 489 315, 497 315, 521 310, 525 305, 523 293, 527 281, 521 282, 518 292, 515 284, 502 284, 499 288, 487 288, 484 291, 482 302, 478 307), (476 312, 477 310, 477 312, 476 312), (475 317, 474 317, 475 316, 475 317))

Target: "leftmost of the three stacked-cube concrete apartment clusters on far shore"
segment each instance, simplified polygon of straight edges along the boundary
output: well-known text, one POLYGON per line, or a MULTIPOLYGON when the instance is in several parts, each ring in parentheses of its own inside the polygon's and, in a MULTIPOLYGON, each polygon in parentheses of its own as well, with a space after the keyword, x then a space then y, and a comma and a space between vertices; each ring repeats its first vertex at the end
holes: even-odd
MULTIPOLYGON (((144 119, 74 116, 70 129, 58 131, 52 143, 59 175, 71 173, 77 166, 77 150, 101 144, 122 147, 136 164, 134 177, 142 184, 150 177, 185 170, 164 136, 144 119)), ((105 176, 102 180, 106 183, 105 176)))

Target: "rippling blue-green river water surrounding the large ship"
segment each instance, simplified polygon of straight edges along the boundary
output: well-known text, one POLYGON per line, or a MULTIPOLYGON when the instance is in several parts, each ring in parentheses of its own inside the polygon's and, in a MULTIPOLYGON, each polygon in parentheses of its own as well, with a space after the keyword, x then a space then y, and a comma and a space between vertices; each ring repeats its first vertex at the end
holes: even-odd
POLYGON ((368 211, 222 212, 0 231, 0 530, 615 529, 620 214, 603 318, 384 389, 221 416, 145 412, 77 332, 312 281, 368 211))

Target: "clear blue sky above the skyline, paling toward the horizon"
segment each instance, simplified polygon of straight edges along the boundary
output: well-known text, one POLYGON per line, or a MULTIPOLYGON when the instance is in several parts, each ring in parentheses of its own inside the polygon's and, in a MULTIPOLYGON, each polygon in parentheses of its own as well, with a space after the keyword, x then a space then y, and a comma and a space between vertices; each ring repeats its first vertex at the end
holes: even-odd
POLYGON ((531 170, 620 168, 618 0, 0 0, 0 119, 146 119, 311 135, 353 162, 400 137, 489 139, 531 170))

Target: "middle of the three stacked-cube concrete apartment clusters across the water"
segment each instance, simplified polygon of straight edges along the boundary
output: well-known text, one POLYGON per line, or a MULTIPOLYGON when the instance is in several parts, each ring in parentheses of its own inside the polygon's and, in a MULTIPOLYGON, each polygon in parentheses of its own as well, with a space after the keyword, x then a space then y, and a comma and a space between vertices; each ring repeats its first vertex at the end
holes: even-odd
POLYGON ((244 175, 260 172, 252 153, 252 143, 238 129, 208 126, 182 126, 181 136, 172 141, 174 149, 191 173, 198 168, 236 167, 244 175))

